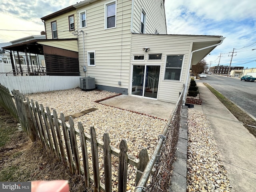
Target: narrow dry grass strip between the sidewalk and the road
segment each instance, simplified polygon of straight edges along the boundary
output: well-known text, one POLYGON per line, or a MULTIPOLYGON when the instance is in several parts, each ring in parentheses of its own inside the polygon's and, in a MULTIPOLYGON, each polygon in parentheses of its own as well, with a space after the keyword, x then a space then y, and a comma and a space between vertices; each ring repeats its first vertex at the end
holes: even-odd
POLYGON ((204 85, 224 104, 224 106, 240 121, 244 124, 244 127, 248 129, 248 131, 256 137, 256 128, 251 126, 256 126, 256 121, 251 118, 248 114, 246 114, 243 110, 238 108, 234 103, 228 100, 225 96, 223 96, 220 92, 215 90, 212 86, 207 83, 204 85), (247 126, 251 125, 251 126, 247 126))

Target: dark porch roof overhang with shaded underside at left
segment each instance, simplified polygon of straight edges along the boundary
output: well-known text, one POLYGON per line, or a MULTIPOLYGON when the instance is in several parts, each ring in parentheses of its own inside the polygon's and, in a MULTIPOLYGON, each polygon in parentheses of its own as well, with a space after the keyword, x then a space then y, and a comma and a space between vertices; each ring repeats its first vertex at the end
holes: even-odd
POLYGON ((43 44, 46 42, 51 42, 53 47, 56 47, 54 43, 59 41, 77 41, 77 38, 71 38, 71 39, 36 39, 36 40, 30 40, 10 46, 3 47, 4 50, 10 50, 10 51, 18 51, 18 52, 30 52, 33 54, 39 54, 43 55, 43 44))

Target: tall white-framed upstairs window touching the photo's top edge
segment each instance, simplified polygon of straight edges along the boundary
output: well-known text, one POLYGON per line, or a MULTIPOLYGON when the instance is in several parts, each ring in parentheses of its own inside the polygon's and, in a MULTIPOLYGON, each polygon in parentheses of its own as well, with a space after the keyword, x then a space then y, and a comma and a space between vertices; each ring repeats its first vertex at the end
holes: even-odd
POLYGON ((106 4, 105 17, 106 29, 116 27, 116 1, 106 4))

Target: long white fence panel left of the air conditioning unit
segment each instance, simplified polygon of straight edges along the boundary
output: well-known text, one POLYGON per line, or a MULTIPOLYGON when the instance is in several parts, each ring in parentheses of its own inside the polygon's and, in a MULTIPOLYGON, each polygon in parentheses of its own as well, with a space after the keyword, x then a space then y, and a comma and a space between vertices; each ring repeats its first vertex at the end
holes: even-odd
POLYGON ((2 76, 0 84, 22 94, 72 89, 80 86, 80 76, 2 76))

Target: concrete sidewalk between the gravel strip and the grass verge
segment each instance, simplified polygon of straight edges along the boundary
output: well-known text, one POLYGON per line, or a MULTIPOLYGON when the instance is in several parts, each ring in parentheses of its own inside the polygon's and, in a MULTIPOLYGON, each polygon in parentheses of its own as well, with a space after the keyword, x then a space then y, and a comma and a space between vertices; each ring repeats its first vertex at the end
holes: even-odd
POLYGON ((227 170, 232 192, 256 191, 256 138, 200 82, 196 82, 202 99, 193 110, 204 113, 227 170))

